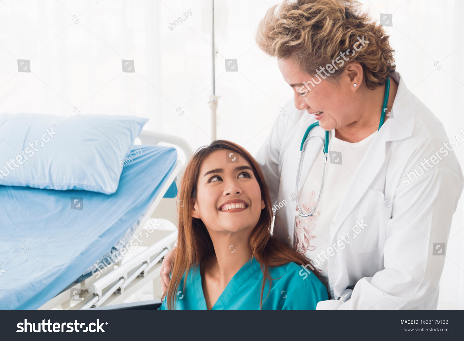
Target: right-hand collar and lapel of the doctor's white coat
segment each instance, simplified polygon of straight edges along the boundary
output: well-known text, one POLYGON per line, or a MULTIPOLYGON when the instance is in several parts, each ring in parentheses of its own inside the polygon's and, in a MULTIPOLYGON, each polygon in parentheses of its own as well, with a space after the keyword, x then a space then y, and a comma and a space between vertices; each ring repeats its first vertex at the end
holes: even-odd
MULTIPOLYGON (((392 78, 398 82, 398 91, 392 107, 393 118, 388 118, 382 125, 354 173, 330 226, 332 242, 336 239, 335 236, 342 223, 359 203, 382 168, 386 158, 386 143, 412 135, 415 121, 412 95, 406 88, 399 72, 395 72, 392 78)), ((359 219, 361 218, 359 217, 359 219)))

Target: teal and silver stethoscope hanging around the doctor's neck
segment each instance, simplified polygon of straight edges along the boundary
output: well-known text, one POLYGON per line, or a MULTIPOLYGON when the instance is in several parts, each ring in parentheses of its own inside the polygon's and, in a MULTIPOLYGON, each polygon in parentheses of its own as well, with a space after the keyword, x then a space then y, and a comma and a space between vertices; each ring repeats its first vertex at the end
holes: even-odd
MULTIPOLYGON (((383 121, 385 120, 385 113, 387 111, 387 103, 388 103, 388 93, 390 92, 390 77, 388 77, 387 79, 387 85, 385 86, 385 94, 383 96, 383 107, 382 107, 382 113, 380 115, 380 124, 379 124, 379 129, 377 129, 377 131, 380 130, 380 128, 382 127, 383 125, 383 121)), ((306 129, 304 135, 303 135, 303 139, 301 140, 301 145, 300 145, 300 161, 299 161, 299 164, 298 164, 298 170, 296 171, 296 188, 295 188, 295 200, 296 200, 296 209, 297 211, 295 211, 295 216, 303 216, 303 217, 306 217, 306 216, 318 216, 318 214, 315 214, 315 211, 316 211, 316 208, 317 208, 317 205, 319 204, 319 200, 321 199, 321 193, 322 193, 322 185, 324 184, 324 171, 325 171, 325 164, 327 164, 327 152, 329 150, 329 131, 325 131, 325 139, 324 141, 322 141, 322 138, 320 138, 319 136, 310 136, 308 138, 308 135, 310 133, 310 131, 319 125, 319 122, 316 122, 316 123, 313 123, 312 125, 310 125, 308 127, 308 129, 306 129), (306 142, 310 139, 310 138, 318 138, 321 140, 321 142, 324 144, 324 159, 322 161, 322 178, 321 178, 321 187, 319 188, 319 195, 317 196, 317 201, 316 201, 316 205, 314 206, 314 208, 311 210, 311 212, 309 213, 303 213, 303 211, 300 209, 300 205, 298 204, 298 184, 300 183, 300 169, 301 169, 301 164, 303 163, 303 155, 304 155, 304 149, 306 147, 306 142)))

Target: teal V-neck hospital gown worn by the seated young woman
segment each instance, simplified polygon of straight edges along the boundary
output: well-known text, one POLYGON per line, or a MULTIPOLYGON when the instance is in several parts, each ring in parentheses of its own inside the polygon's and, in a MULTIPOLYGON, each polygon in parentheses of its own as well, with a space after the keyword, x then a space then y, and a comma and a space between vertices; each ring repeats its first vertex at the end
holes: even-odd
MULTIPOLYGON (((264 310, 308 310, 316 309, 319 301, 328 300, 327 289, 309 270, 294 262, 276 268, 269 268, 273 278, 271 292, 269 281, 263 292, 264 310), (266 298, 267 293, 269 295, 266 298)), ((189 270, 185 290, 182 277, 176 295, 177 310, 206 310, 205 296, 201 286, 200 267, 189 270)), ((259 309, 263 272, 256 258, 252 257, 238 270, 219 296, 213 310, 255 310, 259 309)), ((167 309, 166 298, 160 310, 167 309)))

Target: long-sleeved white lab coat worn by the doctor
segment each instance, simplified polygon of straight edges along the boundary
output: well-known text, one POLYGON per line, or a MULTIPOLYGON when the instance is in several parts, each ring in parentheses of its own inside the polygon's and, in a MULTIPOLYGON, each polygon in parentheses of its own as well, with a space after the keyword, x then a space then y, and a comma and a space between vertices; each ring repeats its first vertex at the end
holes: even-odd
MULTIPOLYGON (((440 152, 442 161, 417 179, 411 175, 413 181, 406 186, 405 172, 417 169, 420 174, 420 161, 436 154, 449 138, 400 74, 395 72, 393 78, 399 83, 393 118, 367 149, 330 225, 330 245, 336 245, 328 274, 335 298, 355 284, 351 299, 339 309, 437 308, 445 256, 432 256, 432 246, 448 240, 464 179, 454 152, 446 157, 440 152), (358 222, 364 224, 362 230, 358 222)), ((256 156, 273 204, 286 201, 276 212, 273 233, 290 246, 296 210, 290 197, 295 193, 299 147, 314 122, 313 115, 296 110, 290 100, 256 156)), ((323 137, 322 128, 313 131, 323 137)), ((321 147, 315 138, 308 141, 299 190, 321 147)))

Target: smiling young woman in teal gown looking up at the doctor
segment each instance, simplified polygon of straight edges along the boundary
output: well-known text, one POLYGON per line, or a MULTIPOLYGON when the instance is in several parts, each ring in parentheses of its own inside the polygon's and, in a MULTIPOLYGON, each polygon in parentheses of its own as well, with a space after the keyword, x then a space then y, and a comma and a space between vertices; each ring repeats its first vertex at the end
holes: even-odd
POLYGON ((245 149, 218 140, 197 151, 179 199, 161 310, 315 309, 328 299, 311 262, 271 236, 269 192, 245 149))

